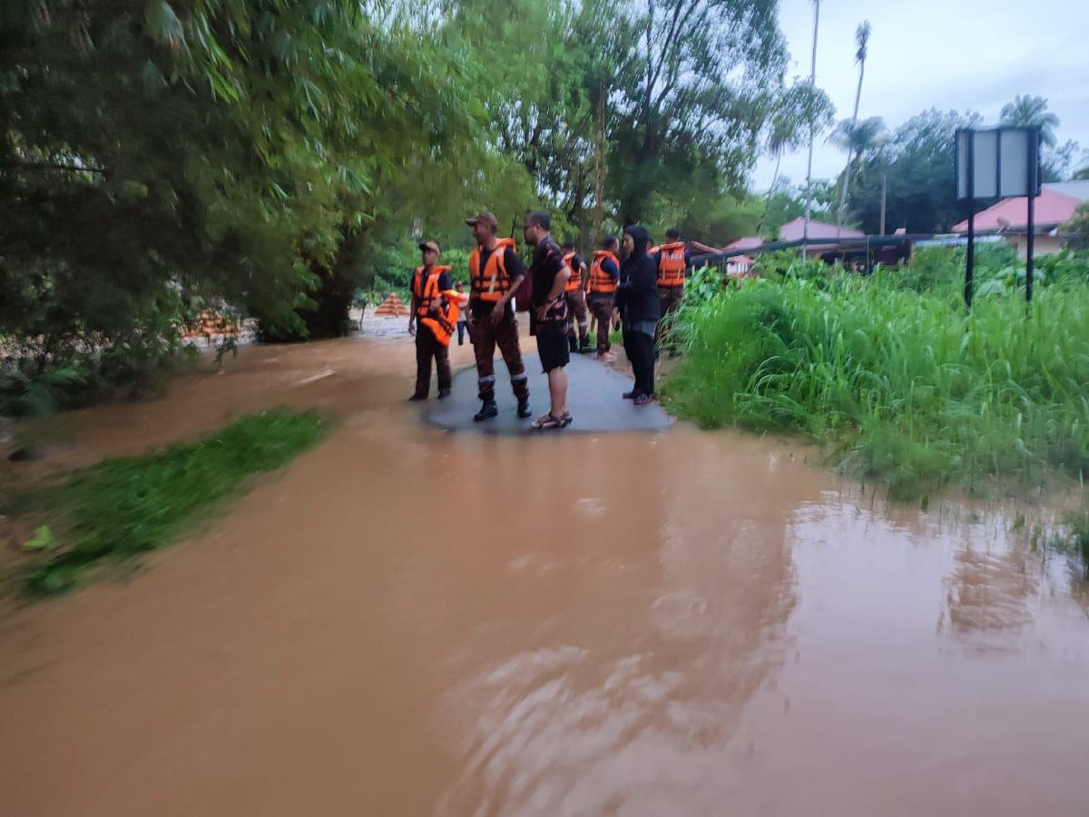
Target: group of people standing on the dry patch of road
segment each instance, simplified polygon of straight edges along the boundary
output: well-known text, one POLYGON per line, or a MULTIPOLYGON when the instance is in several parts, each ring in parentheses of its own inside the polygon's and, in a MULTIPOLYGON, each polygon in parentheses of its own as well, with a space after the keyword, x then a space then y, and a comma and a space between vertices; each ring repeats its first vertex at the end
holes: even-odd
POLYGON ((461 336, 467 328, 481 402, 473 419, 484 423, 499 416, 497 346, 510 375, 517 416, 528 418, 529 382, 518 341, 517 302, 519 310, 529 313, 529 332, 537 339, 549 382, 549 411, 530 423, 530 428, 559 429, 572 423, 565 367, 572 353, 590 351, 590 315, 597 321, 599 359, 611 359, 610 329, 623 329, 624 351, 635 375, 633 388, 623 398, 639 406, 654 401, 660 321, 680 306, 692 263, 678 231, 666 231, 666 243, 652 247, 645 228, 625 228, 622 242, 613 236, 601 242, 587 268, 574 244, 561 247, 553 240, 547 212, 530 212, 523 229, 526 243, 534 247, 527 272, 514 239, 499 237, 494 214, 481 212, 465 223, 477 242, 469 255, 468 293, 454 284, 450 267, 439 264, 436 242, 419 245, 423 265, 413 273, 408 318, 408 331, 416 336, 416 389, 409 400, 427 399, 432 361, 438 369, 439 399, 450 395, 450 341, 455 331, 461 336))

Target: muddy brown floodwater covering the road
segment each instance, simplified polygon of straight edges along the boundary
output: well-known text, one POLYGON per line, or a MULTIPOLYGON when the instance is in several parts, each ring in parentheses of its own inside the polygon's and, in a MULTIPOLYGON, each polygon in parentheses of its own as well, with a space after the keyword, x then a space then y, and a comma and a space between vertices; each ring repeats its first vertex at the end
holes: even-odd
POLYGON ((1006 515, 741 434, 457 437, 411 368, 248 349, 68 418, 58 467, 341 422, 131 580, 5 610, 3 815, 1089 813, 1085 593, 1006 515))

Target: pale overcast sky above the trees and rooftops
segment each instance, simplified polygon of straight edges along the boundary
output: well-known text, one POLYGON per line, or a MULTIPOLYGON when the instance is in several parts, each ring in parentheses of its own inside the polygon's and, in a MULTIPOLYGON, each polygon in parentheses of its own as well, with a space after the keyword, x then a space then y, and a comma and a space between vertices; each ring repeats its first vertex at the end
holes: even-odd
MULTIPOLYGON (((808 76, 812 0, 780 0, 780 26, 791 51, 788 74, 808 76)), ((873 27, 859 119, 882 117, 890 130, 928 108, 974 110, 998 123, 1017 94, 1048 99, 1061 120, 1060 144, 1089 148, 1089 0, 822 0, 817 85, 836 119, 851 117, 858 83, 855 28, 873 27)), ((829 179, 846 157, 818 136, 813 178, 829 179)), ((757 190, 771 183, 774 163, 761 159, 757 190)), ((806 151, 784 155, 781 172, 806 178, 806 151)))

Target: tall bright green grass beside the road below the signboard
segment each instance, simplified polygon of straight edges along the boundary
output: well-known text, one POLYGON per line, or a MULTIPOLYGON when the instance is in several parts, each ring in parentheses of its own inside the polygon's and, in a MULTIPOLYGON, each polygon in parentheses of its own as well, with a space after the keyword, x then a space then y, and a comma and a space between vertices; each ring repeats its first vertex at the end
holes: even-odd
MULTIPOLYGON (((894 275, 893 272, 889 273, 894 275)), ((703 426, 796 430, 897 490, 1089 474, 1089 285, 977 300, 886 276, 747 281, 688 309, 665 392, 703 426)))

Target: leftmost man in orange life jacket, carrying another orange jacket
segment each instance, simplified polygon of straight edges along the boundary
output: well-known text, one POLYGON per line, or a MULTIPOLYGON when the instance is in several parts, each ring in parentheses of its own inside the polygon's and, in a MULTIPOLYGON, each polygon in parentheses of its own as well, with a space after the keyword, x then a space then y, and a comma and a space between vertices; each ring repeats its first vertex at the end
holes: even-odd
MULTIPOLYGON (((443 343, 438 325, 441 293, 454 286, 450 267, 440 267, 439 245, 425 241, 419 245, 424 266, 417 267, 412 277, 412 314, 408 316, 408 334, 416 336, 416 391, 409 400, 427 400, 431 391, 431 358, 439 376, 439 400, 450 397, 453 375, 450 370, 449 340, 443 343), (419 321, 417 331, 416 322, 419 321)), ((456 315, 455 315, 456 317, 456 315)))

